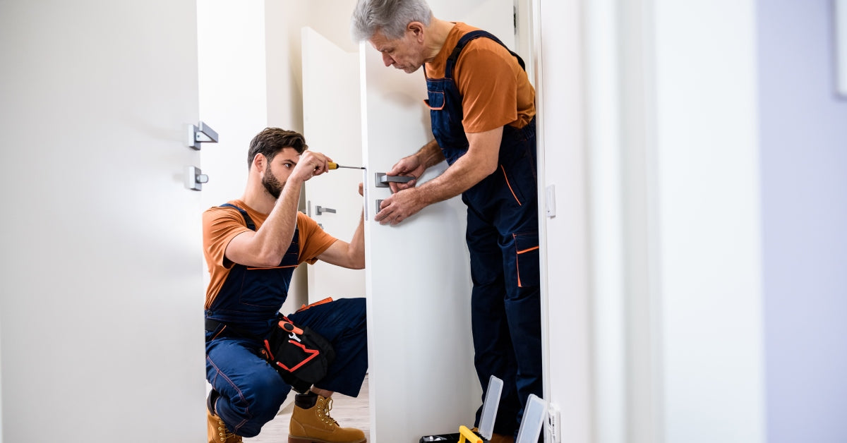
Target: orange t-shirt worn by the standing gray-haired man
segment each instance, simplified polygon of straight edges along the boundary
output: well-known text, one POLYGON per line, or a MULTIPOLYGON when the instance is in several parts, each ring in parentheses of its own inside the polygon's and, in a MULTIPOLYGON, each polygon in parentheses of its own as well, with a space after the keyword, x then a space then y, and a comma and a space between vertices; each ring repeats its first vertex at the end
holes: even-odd
MULTIPOLYGON (((472 30, 457 23, 432 62, 424 65, 427 77, 443 79, 447 58, 459 39, 472 30)), ((529 77, 506 47, 479 37, 465 45, 453 69, 453 79, 462 94, 462 125, 465 132, 484 132, 500 126, 523 128, 535 116, 535 89, 529 77)))

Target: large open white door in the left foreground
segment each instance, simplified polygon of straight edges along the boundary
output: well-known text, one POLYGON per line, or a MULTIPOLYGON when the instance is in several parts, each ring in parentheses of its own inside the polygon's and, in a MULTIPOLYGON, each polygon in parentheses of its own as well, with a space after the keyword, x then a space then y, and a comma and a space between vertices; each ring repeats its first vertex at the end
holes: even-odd
POLYGON ((0 3, 6 441, 205 441, 197 3, 0 3))

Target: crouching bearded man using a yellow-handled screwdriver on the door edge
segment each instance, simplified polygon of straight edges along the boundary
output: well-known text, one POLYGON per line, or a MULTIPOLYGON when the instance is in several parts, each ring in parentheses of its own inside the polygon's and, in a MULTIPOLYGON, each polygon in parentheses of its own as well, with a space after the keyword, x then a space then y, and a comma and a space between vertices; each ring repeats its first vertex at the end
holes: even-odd
MULTIPOLYGON (((323 260, 364 267, 361 219, 347 243, 297 211, 303 182, 327 172, 330 158, 307 151, 296 132, 268 128, 251 141, 247 161, 241 199, 203 213, 211 276, 205 305, 209 443, 257 435, 291 392, 265 358, 263 337, 277 327, 297 265, 323 260)), ((287 318, 323 336, 335 350, 324 378, 295 396, 289 443, 364 442, 361 430, 342 428, 329 415, 332 394, 358 396, 368 369, 364 299, 316 304, 287 318)))

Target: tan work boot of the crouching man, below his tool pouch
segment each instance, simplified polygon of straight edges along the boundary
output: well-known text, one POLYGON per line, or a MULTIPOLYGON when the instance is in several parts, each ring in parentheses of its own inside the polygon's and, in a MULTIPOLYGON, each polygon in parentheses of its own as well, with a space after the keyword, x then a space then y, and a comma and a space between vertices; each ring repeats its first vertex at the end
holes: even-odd
POLYGON ((288 427, 288 443, 364 443, 365 434, 354 428, 341 428, 329 417, 332 398, 313 392, 298 394, 288 427))

